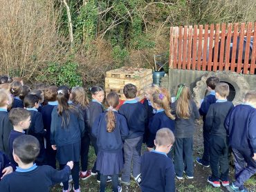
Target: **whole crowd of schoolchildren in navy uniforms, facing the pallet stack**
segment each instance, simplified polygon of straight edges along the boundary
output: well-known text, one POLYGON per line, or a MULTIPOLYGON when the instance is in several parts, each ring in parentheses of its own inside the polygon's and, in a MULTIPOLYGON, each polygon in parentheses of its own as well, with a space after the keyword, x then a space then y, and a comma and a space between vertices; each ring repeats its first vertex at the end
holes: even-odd
POLYGON ((97 175, 100 192, 107 182, 114 192, 122 191, 120 183, 129 185, 131 178, 143 192, 175 191, 175 177, 182 180, 185 173, 194 178, 194 121, 203 115, 204 153, 196 162, 211 167, 210 184, 228 186, 230 144, 236 167, 230 189, 246 191, 244 182, 256 171, 256 92, 247 93, 245 103, 234 108, 226 99, 228 84, 217 77, 206 84, 210 95, 198 110, 187 84, 177 86, 174 102, 155 85, 145 88, 139 102, 136 86, 127 84, 126 101, 119 106, 119 96, 111 92, 105 98, 100 86, 90 88, 89 102, 82 87, 38 84, 30 90, 22 79, 0 77, 0 189, 33 191, 40 186, 37 191, 49 191, 62 182, 67 192, 72 190, 71 174, 76 192, 81 191, 79 180, 91 175, 97 175), (141 156, 143 143, 148 152, 141 156), (90 144, 97 156, 91 170, 90 144))

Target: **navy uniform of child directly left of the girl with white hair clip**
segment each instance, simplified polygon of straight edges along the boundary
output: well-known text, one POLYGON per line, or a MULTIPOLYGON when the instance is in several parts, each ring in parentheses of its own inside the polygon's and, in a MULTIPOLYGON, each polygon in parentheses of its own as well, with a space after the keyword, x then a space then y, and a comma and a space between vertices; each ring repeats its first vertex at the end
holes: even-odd
POLYGON ((46 164, 52 166, 56 169, 56 151, 53 150, 51 146, 50 136, 51 136, 51 114, 53 108, 57 106, 57 102, 48 102, 42 107, 42 117, 44 123, 44 129, 46 129, 46 164))

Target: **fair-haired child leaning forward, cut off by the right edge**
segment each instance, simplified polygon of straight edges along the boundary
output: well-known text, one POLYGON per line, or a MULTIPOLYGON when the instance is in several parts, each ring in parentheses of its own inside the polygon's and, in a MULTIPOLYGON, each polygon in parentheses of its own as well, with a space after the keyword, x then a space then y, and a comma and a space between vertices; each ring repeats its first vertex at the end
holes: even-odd
POLYGON ((244 104, 235 106, 226 117, 230 146, 235 156, 235 182, 232 191, 247 191, 244 187, 256 173, 256 91, 246 93, 244 104))

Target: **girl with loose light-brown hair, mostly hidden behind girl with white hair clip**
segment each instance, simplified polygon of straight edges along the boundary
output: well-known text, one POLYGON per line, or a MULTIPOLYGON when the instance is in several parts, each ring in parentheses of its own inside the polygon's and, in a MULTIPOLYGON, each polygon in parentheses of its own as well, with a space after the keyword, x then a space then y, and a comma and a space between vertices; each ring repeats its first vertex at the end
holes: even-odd
POLYGON ((91 176, 91 170, 87 170, 88 166, 88 153, 90 146, 90 137, 89 137, 89 101, 85 93, 84 88, 76 86, 71 90, 71 101, 77 108, 80 108, 84 115, 84 136, 81 139, 81 167, 80 178, 86 180, 91 176))

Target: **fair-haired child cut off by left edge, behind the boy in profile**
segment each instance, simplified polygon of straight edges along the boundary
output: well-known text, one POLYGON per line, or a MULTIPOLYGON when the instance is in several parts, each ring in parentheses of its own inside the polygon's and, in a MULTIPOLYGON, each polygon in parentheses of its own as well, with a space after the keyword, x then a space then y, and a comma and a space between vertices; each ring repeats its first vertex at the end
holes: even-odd
POLYGON ((0 151, 8 154, 8 139, 10 131, 13 129, 12 124, 8 118, 8 105, 12 103, 12 98, 10 94, 4 90, 0 89, 0 151))

